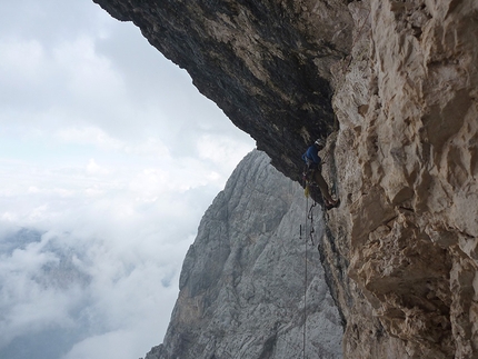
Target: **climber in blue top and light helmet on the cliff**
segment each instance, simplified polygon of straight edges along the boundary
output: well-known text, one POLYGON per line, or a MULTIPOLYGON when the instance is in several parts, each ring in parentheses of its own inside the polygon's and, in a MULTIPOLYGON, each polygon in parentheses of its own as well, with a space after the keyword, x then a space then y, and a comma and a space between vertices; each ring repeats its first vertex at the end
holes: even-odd
POLYGON ((339 200, 333 200, 332 196, 329 193, 329 186, 322 177, 322 159, 319 156, 319 151, 325 147, 325 141, 322 139, 318 139, 310 146, 306 153, 302 154, 302 159, 307 164, 307 178, 311 178, 316 185, 319 187, 320 193, 322 193, 322 198, 327 209, 337 207, 339 205, 339 200))

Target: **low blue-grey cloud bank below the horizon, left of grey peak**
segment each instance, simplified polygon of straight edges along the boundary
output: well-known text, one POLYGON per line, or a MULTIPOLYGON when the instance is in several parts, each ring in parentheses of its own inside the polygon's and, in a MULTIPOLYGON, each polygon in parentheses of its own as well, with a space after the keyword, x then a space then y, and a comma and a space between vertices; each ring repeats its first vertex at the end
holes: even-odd
POLYGON ((166 329, 162 310, 170 310, 177 288, 160 282, 170 280, 171 272, 178 276, 179 258, 169 251, 157 260, 155 251, 168 246, 156 243, 148 253, 136 250, 141 246, 135 240, 118 246, 70 233, 23 230, 16 236, 10 240, 18 242, 23 236, 23 246, 2 255, 0 263, 0 353, 17 337, 63 328, 78 342, 69 357, 89 352, 83 358, 101 358, 106 349, 138 356, 158 340, 158 330, 166 329), (121 345, 110 341, 118 333, 128 333, 121 345))

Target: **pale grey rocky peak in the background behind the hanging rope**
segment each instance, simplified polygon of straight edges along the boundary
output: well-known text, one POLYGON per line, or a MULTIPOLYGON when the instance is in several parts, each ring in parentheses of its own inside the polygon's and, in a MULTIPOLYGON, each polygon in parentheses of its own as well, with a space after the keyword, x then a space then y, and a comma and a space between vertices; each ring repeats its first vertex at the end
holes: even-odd
MULTIPOLYGON (((342 357, 343 328, 319 253, 305 230, 300 239, 303 190, 269 162, 263 152, 248 154, 206 212, 165 343, 146 359, 302 357, 305 325, 306 358, 342 357)), ((315 215, 318 235, 319 207, 315 215)))

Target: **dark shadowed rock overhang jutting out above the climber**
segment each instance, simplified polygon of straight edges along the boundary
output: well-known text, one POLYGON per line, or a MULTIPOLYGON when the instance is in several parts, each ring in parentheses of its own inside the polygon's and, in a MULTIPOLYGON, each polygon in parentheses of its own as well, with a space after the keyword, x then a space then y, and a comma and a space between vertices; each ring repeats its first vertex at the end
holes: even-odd
POLYGON ((133 21, 195 86, 297 179, 335 128, 330 67, 350 52, 349 1, 94 0, 133 21))

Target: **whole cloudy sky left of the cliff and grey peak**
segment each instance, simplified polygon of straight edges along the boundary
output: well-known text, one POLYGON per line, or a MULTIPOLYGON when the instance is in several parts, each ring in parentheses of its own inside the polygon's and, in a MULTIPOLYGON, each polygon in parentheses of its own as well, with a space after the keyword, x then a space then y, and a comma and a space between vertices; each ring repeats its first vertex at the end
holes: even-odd
POLYGON ((255 141, 90 0, 0 0, 0 358, 143 357, 255 141))

